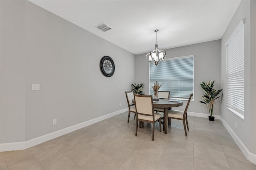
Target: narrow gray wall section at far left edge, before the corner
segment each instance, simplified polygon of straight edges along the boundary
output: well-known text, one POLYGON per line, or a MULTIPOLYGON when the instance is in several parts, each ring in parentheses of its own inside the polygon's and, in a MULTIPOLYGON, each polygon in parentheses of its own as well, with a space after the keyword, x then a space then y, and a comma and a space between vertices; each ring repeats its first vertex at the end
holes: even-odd
POLYGON ((25 140, 24 2, 0 4, 0 141, 19 142, 25 140))

